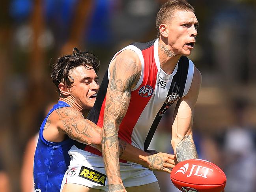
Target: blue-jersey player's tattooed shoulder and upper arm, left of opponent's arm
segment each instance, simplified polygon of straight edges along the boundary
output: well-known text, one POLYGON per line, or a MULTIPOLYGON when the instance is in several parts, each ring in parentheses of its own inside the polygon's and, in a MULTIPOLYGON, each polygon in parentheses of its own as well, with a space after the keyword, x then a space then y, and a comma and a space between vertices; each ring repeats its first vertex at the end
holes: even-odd
POLYGON ((54 110, 47 119, 43 136, 51 142, 61 142, 65 136, 101 149, 101 128, 71 107, 54 110))

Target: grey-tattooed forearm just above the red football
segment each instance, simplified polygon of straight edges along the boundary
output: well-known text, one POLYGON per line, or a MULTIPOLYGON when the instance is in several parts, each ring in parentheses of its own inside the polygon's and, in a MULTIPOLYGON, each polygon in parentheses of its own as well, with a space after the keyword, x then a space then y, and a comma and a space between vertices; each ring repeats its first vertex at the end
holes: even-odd
POLYGON ((192 135, 185 136, 179 142, 176 148, 176 158, 178 162, 198 158, 192 135))

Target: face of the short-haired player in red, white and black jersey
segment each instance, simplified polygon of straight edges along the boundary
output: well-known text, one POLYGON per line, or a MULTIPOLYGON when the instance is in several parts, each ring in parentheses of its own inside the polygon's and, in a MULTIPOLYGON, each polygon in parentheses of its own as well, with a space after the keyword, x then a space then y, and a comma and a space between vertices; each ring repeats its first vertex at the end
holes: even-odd
POLYGON ((168 44, 174 54, 189 56, 196 43, 198 21, 191 11, 176 11, 167 24, 168 44))

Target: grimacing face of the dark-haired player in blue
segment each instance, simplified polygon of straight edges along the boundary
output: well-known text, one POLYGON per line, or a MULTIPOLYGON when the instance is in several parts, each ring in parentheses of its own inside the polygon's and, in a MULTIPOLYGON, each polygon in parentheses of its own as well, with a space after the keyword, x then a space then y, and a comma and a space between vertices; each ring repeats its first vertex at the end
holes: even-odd
POLYGON ((74 83, 71 85, 71 97, 82 110, 90 110, 99 90, 98 76, 94 69, 79 66, 73 69, 69 75, 74 78, 74 83))

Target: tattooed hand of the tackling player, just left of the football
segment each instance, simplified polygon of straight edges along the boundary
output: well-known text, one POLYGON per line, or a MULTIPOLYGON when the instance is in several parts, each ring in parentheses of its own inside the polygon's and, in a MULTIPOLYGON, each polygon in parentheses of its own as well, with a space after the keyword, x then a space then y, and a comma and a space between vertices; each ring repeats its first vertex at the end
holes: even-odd
POLYGON ((171 173, 171 169, 174 168, 174 155, 168 153, 156 153, 153 155, 148 155, 148 168, 150 170, 164 171, 166 173, 171 173))

